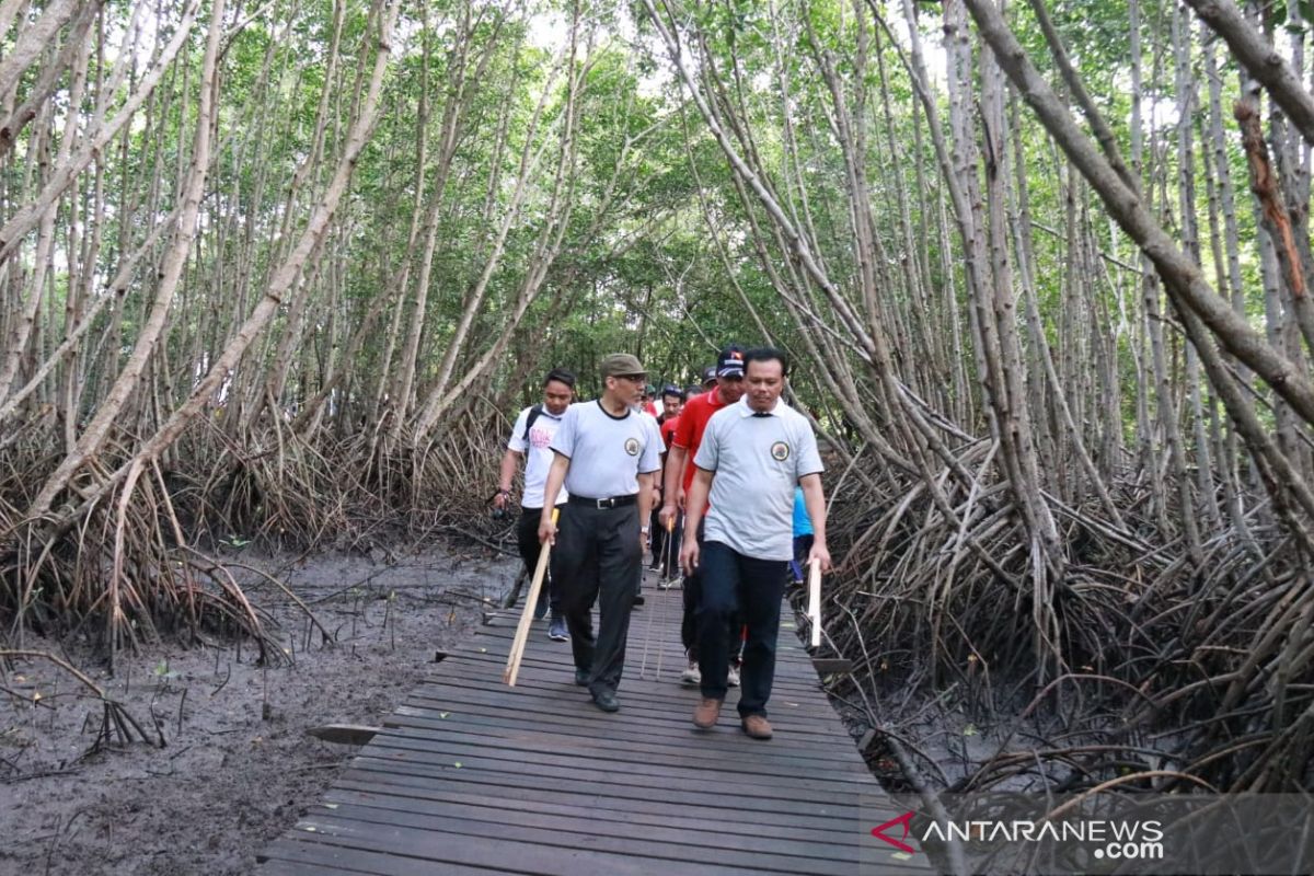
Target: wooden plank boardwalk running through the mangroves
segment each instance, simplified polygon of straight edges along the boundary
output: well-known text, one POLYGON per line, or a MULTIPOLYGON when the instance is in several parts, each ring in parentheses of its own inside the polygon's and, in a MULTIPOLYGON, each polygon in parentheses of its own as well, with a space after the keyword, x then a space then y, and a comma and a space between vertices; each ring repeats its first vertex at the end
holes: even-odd
POLYGON ((516 687, 502 684, 518 612, 494 615, 263 851, 260 873, 925 872, 921 855, 871 851, 874 818, 897 813, 827 701, 788 611, 769 704, 775 738, 762 742, 740 732, 735 690, 714 730, 692 726, 698 691, 679 686, 681 592, 644 592, 620 712, 602 713, 574 686, 570 646, 549 641, 544 623, 516 687))

